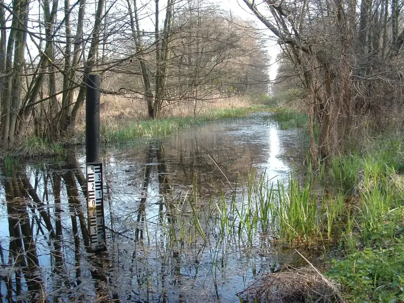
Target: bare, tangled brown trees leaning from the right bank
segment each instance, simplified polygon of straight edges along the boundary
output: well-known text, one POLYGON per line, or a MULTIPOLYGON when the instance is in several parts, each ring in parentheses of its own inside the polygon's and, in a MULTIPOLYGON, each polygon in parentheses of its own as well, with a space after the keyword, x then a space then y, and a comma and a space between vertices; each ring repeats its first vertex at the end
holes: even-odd
POLYGON ((298 72, 313 158, 326 159, 347 136, 357 137, 364 119, 381 126, 401 109, 401 4, 363 0, 358 13, 352 0, 244 3, 271 30, 298 72))

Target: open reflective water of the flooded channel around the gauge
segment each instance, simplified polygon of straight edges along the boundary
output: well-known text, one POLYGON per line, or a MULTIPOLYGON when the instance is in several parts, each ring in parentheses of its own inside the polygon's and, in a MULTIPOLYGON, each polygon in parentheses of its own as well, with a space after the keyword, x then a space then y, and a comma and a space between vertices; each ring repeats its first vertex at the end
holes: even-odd
POLYGON ((231 211, 218 201, 227 201, 227 208, 243 203, 247 194, 236 183, 249 172, 265 172, 274 182, 288 179, 300 134, 267 118, 212 122, 163 139, 105 146, 107 251, 98 255, 85 249, 82 149, 4 169, 2 300, 239 302, 237 292, 290 258, 269 235, 224 236, 218 228, 222 220, 223 229, 231 229, 223 221, 231 211))

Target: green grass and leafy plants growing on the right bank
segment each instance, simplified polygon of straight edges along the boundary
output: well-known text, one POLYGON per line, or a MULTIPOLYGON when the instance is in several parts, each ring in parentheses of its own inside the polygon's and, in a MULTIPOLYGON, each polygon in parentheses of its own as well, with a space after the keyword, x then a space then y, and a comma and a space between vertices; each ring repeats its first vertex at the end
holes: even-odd
MULTIPOLYGON (((399 138, 377 138, 366 148, 331 159, 328 181, 355 197, 346 208, 341 243, 350 252, 327 275, 355 302, 404 301, 403 189, 399 138), (362 249, 358 251, 358 249, 362 249)), ((341 191, 342 192, 342 191, 341 191)))

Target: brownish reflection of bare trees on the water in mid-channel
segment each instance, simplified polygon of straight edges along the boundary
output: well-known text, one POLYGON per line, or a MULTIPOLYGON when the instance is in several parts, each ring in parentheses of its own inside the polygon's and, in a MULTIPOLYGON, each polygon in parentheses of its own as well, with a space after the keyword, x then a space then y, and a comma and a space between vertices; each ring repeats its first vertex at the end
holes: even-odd
POLYGON ((251 163, 264 161, 262 145, 232 139, 212 135, 209 127, 194 136, 172 137, 166 158, 170 171, 175 172, 173 184, 192 185, 196 180, 202 196, 212 195, 217 189, 229 190, 227 179, 234 183, 239 174, 249 172, 251 163))

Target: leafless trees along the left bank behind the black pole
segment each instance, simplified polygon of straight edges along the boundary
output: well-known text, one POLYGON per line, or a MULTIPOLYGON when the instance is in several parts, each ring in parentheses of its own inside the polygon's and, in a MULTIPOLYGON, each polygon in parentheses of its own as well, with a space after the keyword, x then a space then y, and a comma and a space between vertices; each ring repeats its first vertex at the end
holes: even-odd
POLYGON ((85 75, 104 93, 163 107, 266 93, 262 36, 199 0, 0 2, 1 140, 74 134, 85 75))

